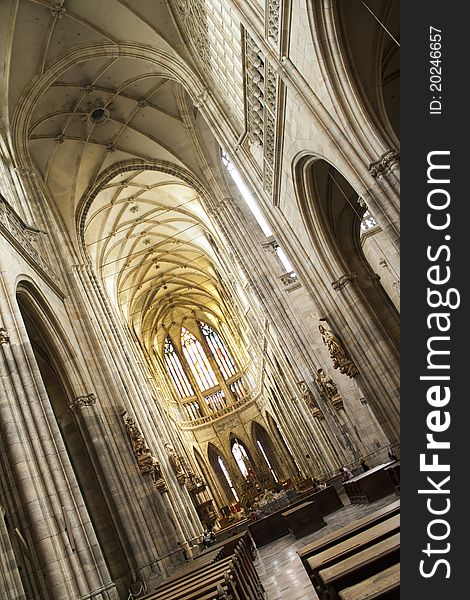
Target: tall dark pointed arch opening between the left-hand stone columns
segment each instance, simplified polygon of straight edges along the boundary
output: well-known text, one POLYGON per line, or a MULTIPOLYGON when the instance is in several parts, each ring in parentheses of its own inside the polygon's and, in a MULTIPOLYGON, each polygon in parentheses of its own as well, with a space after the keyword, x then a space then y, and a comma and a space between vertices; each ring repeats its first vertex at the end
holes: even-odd
POLYGON ((93 458, 73 412, 76 400, 79 407, 80 399, 91 405, 96 398, 89 395, 77 399, 76 386, 83 382, 70 341, 41 292, 29 281, 20 280, 17 302, 32 349, 33 369, 37 369, 44 386, 45 393, 41 393, 43 410, 52 411, 57 425, 57 431, 51 431, 50 435, 59 449, 63 444, 71 467, 69 470, 62 458, 64 469, 69 472, 70 488, 74 490, 77 502, 83 502, 86 507, 86 515, 99 540, 111 577, 118 589, 125 589, 131 567, 118 534, 114 500, 100 485, 93 458))

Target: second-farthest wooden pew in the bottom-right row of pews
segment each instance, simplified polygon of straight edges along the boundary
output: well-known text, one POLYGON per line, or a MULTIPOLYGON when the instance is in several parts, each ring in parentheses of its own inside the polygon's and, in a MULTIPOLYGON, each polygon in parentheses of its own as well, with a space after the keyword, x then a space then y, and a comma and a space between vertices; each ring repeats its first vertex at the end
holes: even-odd
POLYGON ((320 591, 323 589, 322 581, 319 576, 319 572, 322 569, 326 569, 327 567, 394 535, 399 529, 400 515, 394 515, 393 517, 390 517, 390 519, 378 523, 377 525, 373 525, 365 531, 353 535, 339 544, 308 558, 307 565, 309 575, 314 587, 320 591))

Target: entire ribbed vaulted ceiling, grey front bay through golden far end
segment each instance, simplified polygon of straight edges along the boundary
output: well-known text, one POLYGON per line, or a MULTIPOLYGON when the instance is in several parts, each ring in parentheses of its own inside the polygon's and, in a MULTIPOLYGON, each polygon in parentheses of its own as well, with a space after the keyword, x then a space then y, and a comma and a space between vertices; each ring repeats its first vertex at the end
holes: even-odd
POLYGON ((204 85, 169 3, 2 0, 0 28, 18 164, 115 305, 149 344, 191 311, 220 317, 195 126, 204 85))

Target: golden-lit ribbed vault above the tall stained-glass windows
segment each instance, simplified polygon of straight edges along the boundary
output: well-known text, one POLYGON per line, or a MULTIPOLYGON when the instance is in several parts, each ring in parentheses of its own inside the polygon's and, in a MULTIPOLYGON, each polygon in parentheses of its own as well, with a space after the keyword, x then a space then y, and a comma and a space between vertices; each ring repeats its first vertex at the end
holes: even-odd
POLYGON ((193 311, 222 316, 210 227, 197 192, 161 171, 119 174, 94 200, 88 253, 143 339, 151 342, 193 311))

